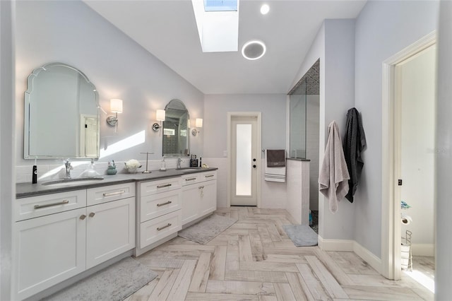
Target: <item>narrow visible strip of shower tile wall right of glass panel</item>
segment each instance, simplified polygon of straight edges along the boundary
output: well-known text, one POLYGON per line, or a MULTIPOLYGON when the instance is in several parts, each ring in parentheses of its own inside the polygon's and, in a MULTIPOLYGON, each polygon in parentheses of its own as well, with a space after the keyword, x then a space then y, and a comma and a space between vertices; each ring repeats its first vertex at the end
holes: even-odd
POLYGON ((307 95, 306 158, 309 164, 309 209, 319 210, 319 95, 307 95))

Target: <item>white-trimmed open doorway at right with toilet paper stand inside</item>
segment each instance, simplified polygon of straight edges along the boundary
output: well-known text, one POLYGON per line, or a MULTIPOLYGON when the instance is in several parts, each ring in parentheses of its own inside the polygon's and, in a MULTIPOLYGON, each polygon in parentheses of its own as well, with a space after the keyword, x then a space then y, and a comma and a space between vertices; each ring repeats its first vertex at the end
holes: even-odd
POLYGON ((436 34, 431 33, 383 62, 382 120, 381 274, 401 278, 406 267, 402 237, 409 230, 414 260, 413 271, 406 273, 422 278, 421 284, 431 290, 434 264, 425 271, 419 268, 420 261, 434 262, 435 43, 436 34), (411 208, 402 210, 401 201, 411 208), (427 254, 432 256, 417 257, 427 254))

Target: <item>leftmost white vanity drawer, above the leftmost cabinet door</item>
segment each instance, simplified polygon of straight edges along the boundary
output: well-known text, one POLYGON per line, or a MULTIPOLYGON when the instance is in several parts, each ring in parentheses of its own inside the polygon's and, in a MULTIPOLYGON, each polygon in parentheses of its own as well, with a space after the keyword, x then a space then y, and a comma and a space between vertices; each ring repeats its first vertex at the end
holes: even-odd
POLYGON ((86 190, 75 190, 43 196, 16 199, 14 220, 27 220, 86 206, 86 190))

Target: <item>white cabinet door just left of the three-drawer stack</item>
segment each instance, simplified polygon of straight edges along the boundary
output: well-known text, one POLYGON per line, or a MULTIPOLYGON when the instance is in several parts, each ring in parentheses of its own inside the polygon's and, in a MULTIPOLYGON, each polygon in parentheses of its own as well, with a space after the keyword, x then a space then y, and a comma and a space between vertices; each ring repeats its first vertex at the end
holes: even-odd
POLYGON ((86 208, 86 268, 135 247, 135 198, 86 208))

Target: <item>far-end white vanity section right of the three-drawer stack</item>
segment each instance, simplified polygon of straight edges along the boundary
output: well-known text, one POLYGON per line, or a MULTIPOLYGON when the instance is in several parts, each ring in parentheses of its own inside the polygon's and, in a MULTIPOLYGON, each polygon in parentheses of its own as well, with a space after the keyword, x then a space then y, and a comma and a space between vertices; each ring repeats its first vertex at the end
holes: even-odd
POLYGON ((182 225, 216 210, 216 170, 183 175, 182 185, 182 225))

